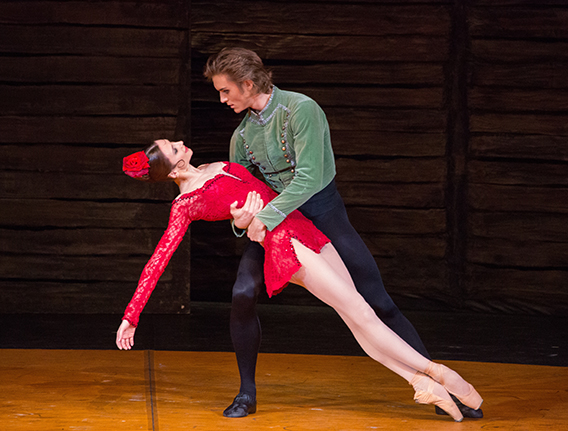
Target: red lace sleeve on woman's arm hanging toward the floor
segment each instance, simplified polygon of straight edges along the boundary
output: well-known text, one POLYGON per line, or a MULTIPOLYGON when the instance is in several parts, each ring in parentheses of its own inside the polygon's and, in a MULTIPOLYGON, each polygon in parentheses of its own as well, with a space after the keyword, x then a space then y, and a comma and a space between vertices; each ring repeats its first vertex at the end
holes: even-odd
POLYGON ((152 291, 158 283, 158 279, 162 276, 172 255, 181 243, 191 220, 187 206, 174 202, 170 212, 168 228, 162 235, 162 239, 156 246, 152 257, 144 267, 136 292, 134 292, 134 296, 124 312, 122 319, 128 320, 131 325, 138 326, 140 313, 148 302, 152 291))

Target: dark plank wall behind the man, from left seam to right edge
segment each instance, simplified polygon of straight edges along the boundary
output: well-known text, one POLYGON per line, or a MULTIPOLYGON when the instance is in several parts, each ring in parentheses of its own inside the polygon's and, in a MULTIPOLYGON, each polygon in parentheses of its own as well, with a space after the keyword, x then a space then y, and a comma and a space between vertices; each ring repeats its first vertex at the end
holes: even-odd
MULTIPOLYGON (((326 110, 351 220, 401 306, 565 312, 567 19, 564 0, 193 1, 193 146, 225 158, 240 119, 205 59, 255 49, 326 110)), ((194 298, 229 298, 227 232, 194 229, 194 298)))

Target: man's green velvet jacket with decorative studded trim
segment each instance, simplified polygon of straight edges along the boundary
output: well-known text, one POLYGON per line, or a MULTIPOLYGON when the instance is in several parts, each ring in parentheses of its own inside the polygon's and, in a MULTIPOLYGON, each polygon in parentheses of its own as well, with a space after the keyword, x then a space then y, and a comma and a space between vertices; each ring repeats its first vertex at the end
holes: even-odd
POLYGON ((266 107, 249 112, 231 138, 231 162, 258 168, 279 195, 257 214, 268 230, 335 177, 329 124, 319 105, 273 87, 266 107))

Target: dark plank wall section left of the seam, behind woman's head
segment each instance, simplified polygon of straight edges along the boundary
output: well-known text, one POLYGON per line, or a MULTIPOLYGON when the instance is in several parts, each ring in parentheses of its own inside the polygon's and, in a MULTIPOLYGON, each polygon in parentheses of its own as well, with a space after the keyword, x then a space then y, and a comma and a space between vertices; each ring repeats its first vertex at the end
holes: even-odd
MULTIPOLYGON (((187 133, 187 6, 0 3, 0 312, 124 309, 174 188, 128 179, 121 160, 187 133)), ((188 250, 149 311, 187 308, 188 250)))

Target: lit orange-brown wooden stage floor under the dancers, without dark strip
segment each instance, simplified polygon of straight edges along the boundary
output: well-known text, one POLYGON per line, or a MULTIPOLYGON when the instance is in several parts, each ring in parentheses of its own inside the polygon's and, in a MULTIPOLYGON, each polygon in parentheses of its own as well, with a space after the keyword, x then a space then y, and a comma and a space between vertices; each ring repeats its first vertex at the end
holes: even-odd
POLYGON ((2 430, 565 430, 568 368, 445 361, 485 399, 453 422, 366 357, 261 354, 258 412, 222 416, 232 353, 0 350, 2 430))

